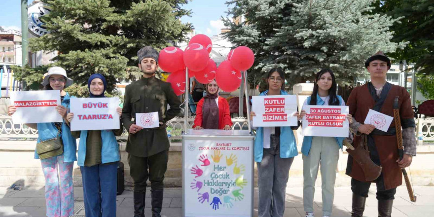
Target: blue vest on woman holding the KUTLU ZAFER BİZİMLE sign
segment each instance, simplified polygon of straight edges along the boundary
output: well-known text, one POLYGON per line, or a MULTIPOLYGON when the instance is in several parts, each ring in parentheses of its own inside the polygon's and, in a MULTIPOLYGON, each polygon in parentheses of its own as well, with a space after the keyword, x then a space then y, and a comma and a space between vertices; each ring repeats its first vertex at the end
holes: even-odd
MULTIPOLYGON (((268 90, 259 94, 259 96, 265 96, 268 90)), ((281 90, 281 95, 288 95, 287 92, 281 90)), ((254 139, 254 161, 261 162, 264 145, 263 145, 263 127, 258 127, 256 130, 256 137, 254 139)), ((295 142, 294 133, 291 127, 280 127, 280 157, 290 158, 298 155, 297 144, 295 142)))

